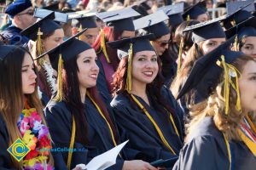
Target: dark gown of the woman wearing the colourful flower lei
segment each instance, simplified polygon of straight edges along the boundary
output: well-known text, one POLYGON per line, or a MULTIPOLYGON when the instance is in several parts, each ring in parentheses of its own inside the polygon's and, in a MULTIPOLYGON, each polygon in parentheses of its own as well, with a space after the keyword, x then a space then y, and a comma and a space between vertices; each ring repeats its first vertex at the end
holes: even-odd
MULTIPOLYGON (((52 144, 53 149, 55 149, 55 145, 52 144)), ((1 170, 15 170, 12 161, 11 161, 11 155, 7 151, 9 148, 9 134, 6 127, 5 122, 3 121, 3 117, 0 115, 0 169, 1 170)), ((55 161, 55 169, 61 169, 65 170, 66 165, 64 161, 62 161, 60 158, 60 154, 58 152, 51 152, 54 161, 55 161)))

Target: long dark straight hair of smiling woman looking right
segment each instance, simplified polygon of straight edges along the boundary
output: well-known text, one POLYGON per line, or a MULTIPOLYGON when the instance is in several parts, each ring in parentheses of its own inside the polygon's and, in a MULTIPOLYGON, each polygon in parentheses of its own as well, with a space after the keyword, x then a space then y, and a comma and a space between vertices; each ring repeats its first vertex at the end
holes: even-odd
MULTIPOLYGON (((69 59, 64 64, 65 74, 62 74, 63 79, 63 100, 67 103, 67 107, 69 111, 72 111, 76 122, 76 138, 82 144, 88 144, 87 139, 87 121, 86 114, 84 114, 84 103, 81 101, 81 95, 79 90, 79 77, 78 71, 79 67, 77 64, 77 57, 73 57, 69 59), (84 133, 85 132, 85 133, 84 133), (85 135, 84 135, 85 134, 85 135)), ((90 94, 91 98, 96 101, 96 104, 99 105, 102 113, 106 116, 110 126, 113 128, 114 134, 116 136, 115 128, 113 127, 113 122, 108 115, 108 111, 106 106, 103 104, 102 99, 97 93, 96 87, 88 88, 87 93, 90 94)))

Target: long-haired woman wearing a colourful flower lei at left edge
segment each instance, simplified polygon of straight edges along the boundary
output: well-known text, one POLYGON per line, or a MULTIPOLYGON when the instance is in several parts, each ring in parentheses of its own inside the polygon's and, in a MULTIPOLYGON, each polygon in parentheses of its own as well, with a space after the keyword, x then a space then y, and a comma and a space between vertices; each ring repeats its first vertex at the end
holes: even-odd
POLYGON ((32 56, 25 48, 1 44, 0 71, 0 169, 54 169, 32 56), (18 138, 30 148, 21 161, 8 151, 18 138))

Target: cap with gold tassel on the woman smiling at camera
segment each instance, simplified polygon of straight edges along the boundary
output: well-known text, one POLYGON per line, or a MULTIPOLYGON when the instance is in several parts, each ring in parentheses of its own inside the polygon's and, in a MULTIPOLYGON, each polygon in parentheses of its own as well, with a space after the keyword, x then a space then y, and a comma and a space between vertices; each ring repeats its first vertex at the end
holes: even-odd
POLYGON ((131 63, 133 55, 140 51, 154 51, 150 40, 154 39, 154 34, 148 34, 139 37, 124 38, 121 40, 108 42, 108 46, 111 48, 117 48, 119 59, 123 59, 128 56, 128 68, 125 89, 127 92, 131 92, 131 63))

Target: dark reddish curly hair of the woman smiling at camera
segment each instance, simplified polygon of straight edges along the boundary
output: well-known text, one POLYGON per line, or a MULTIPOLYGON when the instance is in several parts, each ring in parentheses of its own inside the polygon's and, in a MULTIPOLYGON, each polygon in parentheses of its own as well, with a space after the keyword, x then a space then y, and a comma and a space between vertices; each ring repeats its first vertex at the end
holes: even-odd
MULTIPOLYGON (((172 116, 175 117, 173 114, 173 109, 167 104, 166 100, 163 99, 161 89, 164 86, 164 77, 161 74, 161 64, 160 64, 160 58, 157 58, 157 63, 159 66, 159 71, 157 73, 157 76, 154 78, 154 81, 147 84, 147 92, 154 99, 154 101, 158 105, 164 106, 167 111, 169 111, 172 116)), ((128 67, 128 58, 124 57, 121 59, 119 63, 119 67, 117 71, 113 75, 113 95, 115 94, 125 94, 129 99, 131 99, 131 96, 127 93, 125 90, 125 84, 126 84, 126 77, 127 77, 127 67, 128 67)), ((158 107, 160 111, 163 113, 166 113, 165 109, 162 107, 158 107)), ((165 116, 167 116, 165 114, 165 116)))

